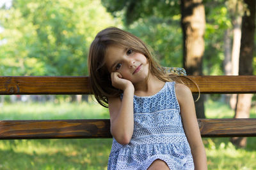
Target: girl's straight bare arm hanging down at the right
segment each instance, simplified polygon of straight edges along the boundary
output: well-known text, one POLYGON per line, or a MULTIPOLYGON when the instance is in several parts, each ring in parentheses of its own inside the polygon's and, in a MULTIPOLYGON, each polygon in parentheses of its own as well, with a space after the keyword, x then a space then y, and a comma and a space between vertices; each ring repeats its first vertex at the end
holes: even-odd
POLYGON ((206 153, 196 119, 195 104, 191 90, 186 85, 177 83, 175 91, 180 104, 180 115, 191 148, 195 169, 207 169, 206 153))

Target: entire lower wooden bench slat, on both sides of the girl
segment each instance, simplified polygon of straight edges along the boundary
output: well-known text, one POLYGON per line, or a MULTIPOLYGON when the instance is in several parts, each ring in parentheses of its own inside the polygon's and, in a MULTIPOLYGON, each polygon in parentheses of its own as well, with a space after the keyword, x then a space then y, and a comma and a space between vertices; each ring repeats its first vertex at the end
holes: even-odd
MULTIPOLYGON (((256 118, 198 119, 202 137, 256 136, 256 118)), ((1 120, 0 139, 112 138, 108 119, 1 120)))

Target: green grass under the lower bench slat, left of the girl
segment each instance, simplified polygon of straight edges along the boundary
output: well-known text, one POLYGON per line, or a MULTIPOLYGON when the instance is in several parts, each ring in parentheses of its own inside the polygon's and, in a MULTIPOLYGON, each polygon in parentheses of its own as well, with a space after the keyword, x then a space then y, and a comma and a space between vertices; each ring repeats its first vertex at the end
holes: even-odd
POLYGON ((0 169, 107 169, 111 139, 0 141, 0 169))

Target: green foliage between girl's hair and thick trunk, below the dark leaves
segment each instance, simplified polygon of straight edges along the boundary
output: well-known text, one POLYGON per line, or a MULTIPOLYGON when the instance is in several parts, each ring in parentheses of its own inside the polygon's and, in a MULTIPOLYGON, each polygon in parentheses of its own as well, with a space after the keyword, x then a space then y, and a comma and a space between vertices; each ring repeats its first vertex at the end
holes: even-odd
POLYGON ((134 22, 128 29, 152 48, 161 66, 182 67, 182 31, 180 15, 169 19, 148 17, 134 22))

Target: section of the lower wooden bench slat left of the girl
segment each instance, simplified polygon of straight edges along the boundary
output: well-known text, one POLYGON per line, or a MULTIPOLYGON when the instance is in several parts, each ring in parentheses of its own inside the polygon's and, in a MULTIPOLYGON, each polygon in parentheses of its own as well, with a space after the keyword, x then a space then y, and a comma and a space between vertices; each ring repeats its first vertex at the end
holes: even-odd
POLYGON ((0 139, 111 138, 110 122, 97 120, 0 120, 0 139))

